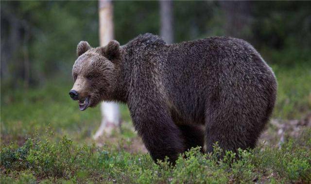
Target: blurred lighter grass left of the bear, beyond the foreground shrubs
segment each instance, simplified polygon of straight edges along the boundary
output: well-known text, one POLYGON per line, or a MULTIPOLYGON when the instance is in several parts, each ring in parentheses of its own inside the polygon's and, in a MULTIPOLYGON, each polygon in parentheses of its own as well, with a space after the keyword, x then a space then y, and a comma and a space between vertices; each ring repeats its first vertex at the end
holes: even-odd
MULTIPOLYGON (((8 91, 1 95, 2 138, 8 136, 10 141, 17 141, 20 136, 23 138, 34 131, 44 133, 48 126, 58 140, 64 134, 75 140, 90 138, 101 122, 99 108, 80 112, 77 102, 70 100, 68 95, 72 84, 50 83, 40 88, 8 91)), ((130 121, 125 105, 121 105, 121 117, 130 121)))

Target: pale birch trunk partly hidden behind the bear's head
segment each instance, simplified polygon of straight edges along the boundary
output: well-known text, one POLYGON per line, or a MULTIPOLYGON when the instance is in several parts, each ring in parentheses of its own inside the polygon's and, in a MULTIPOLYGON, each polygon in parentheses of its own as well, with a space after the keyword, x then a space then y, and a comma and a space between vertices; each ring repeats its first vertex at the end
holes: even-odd
MULTIPOLYGON (((99 0, 99 37, 100 45, 105 46, 113 39, 113 6, 111 0, 99 0)), ((110 135, 112 131, 120 127, 121 117, 119 105, 114 102, 101 104, 102 122, 93 138, 101 135, 110 135)))

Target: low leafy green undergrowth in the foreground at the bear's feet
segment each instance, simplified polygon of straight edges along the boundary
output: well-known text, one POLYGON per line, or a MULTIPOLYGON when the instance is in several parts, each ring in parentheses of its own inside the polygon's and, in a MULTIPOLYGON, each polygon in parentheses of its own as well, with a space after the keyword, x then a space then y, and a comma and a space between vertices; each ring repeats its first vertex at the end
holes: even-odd
POLYGON ((113 145, 79 146, 68 137, 53 142, 28 138, 21 147, 1 149, 1 184, 12 183, 310 183, 311 129, 281 148, 256 148, 181 155, 175 166, 155 164, 148 154, 131 154, 113 145))

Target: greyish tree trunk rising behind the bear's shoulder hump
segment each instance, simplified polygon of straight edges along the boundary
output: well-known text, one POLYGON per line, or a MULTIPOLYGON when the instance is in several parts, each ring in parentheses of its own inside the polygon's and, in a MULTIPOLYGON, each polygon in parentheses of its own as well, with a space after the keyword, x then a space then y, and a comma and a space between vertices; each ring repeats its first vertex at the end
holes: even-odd
POLYGON ((160 16, 161 16, 161 37, 167 43, 173 43, 173 1, 160 0, 160 16))

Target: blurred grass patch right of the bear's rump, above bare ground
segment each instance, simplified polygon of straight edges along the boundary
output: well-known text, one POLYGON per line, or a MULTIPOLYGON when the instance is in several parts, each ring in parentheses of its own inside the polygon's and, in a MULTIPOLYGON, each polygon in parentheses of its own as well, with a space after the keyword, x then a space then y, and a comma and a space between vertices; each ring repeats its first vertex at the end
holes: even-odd
POLYGON ((273 67, 278 82, 274 118, 299 119, 311 109, 311 66, 273 67))

